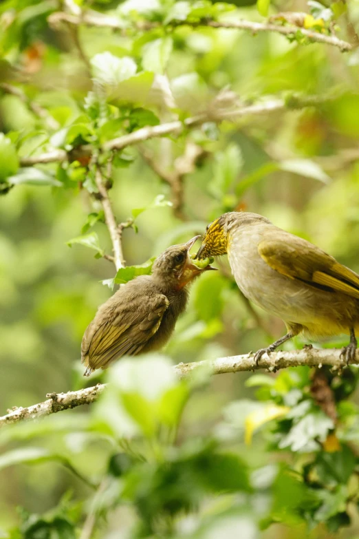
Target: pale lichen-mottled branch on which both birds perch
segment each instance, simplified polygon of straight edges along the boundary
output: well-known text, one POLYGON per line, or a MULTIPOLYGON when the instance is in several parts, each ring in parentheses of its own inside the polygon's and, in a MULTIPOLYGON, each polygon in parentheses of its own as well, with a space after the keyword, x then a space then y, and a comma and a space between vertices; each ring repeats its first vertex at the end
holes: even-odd
MULTIPOLYGON (((184 379, 191 375, 196 369, 208 369, 210 374, 224 374, 226 372, 243 372, 254 371, 259 369, 268 370, 268 372, 276 372, 276 370, 287 367, 316 367, 321 368, 323 365, 328 365, 333 370, 341 370, 345 368, 346 363, 340 358, 341 350, 332 348, 320 350, 305 346, 303 350, 292 350, 290 352, 272 352, 270 357, 264 355, 261 357, 259 365, 254 363, 254 354, 219 357, 212 361, 204 360, 195 363, 179 363, 174 366, 174 370, 180 379, 184 379)), ((359 363, 359 349, 356 351, 356 363, 359 363)), ((95 385, 92 388, 86 388, 78 391, 69 391, 67 393, 48 393, 47 401, 39 404, 34 404, 28 408, 16 408, 6 416, 0 417, 0 428, 4 425, 18 423, 28 419, 39 419, 40 417, 50 414, 56 414, 68 408, 76 408, 83 404, 93 403, 98 399, 106 385, 95 385)))

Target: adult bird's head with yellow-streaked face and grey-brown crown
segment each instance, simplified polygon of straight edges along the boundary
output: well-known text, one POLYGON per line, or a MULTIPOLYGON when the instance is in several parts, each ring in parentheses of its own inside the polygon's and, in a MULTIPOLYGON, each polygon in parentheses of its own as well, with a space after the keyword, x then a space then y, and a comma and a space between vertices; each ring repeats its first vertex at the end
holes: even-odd
POLYGON ((210 256, 226 255, 231 231, 237 229, 238 226, 246 226, 260 221, 270 222, 262 215, 247 211, 228 211, 228 213, 224 213, 221 217, 208 224, 196 258, 202 259, 210 256))

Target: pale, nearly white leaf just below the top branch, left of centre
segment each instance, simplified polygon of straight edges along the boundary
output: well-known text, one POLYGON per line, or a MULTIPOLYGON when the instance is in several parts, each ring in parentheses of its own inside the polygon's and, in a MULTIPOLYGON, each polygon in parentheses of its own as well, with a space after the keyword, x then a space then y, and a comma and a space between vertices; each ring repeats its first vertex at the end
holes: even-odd
POLYGON ((111 52, 100 52, 91 58, 92 74, 97 81, 117 85, 131 78, 137 71, 135 61, 129 56, 114 56, 111 52))

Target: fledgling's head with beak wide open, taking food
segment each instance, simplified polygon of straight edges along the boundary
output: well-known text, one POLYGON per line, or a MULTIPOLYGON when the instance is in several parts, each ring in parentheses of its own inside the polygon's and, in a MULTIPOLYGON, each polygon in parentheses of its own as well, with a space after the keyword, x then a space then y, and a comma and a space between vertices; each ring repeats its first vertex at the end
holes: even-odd
POLYGON ((189 251, 199 237, 201 236, 195 236, 189 242, 168 247, 153 262, 153 277, 160 279, 169 287, 181 290, 203 271, 215 270, 209 264, 203 268, 197 266, 190 257, 189 251))

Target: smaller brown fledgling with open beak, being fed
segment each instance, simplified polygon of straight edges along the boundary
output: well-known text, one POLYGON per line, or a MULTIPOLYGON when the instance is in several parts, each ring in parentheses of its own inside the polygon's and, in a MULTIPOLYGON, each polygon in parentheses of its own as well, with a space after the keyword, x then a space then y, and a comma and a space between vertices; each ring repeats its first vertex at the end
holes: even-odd
POLYGON ((124 355, 159 350, 167 343, 186 308, 188 284, 216 269, 209 260, 196 265, 191 259, 189 251, 199 237, 168 247, 153 262, 151 275, 122 284, 98 308, 81 343, 84 376, 124 355))

